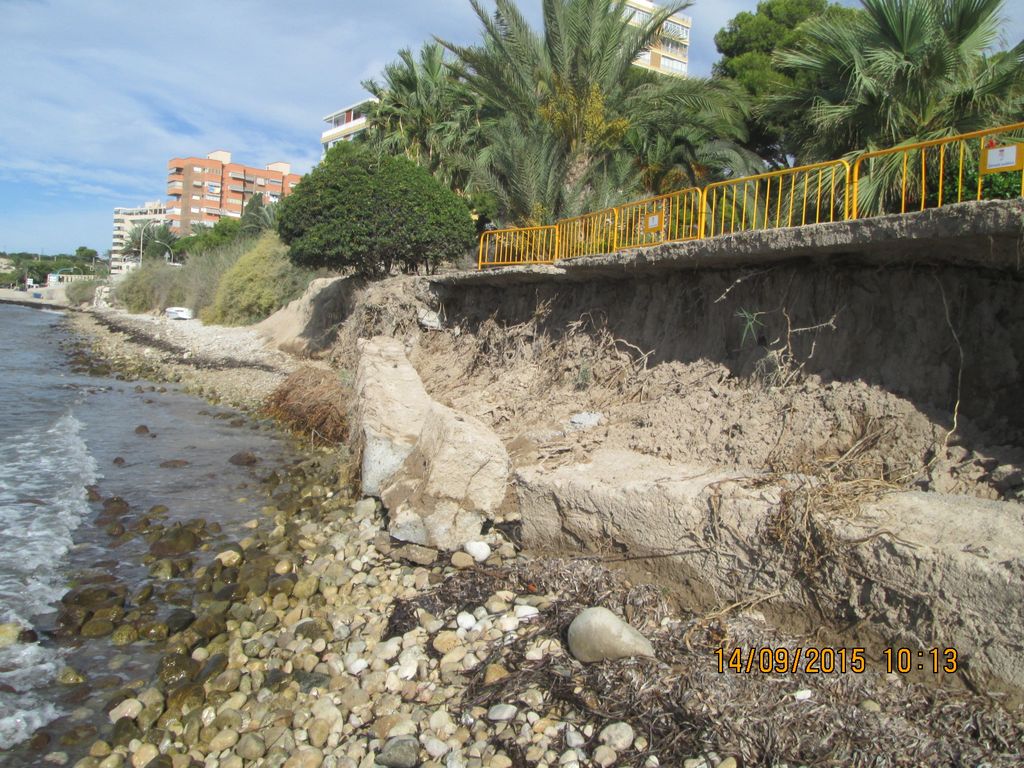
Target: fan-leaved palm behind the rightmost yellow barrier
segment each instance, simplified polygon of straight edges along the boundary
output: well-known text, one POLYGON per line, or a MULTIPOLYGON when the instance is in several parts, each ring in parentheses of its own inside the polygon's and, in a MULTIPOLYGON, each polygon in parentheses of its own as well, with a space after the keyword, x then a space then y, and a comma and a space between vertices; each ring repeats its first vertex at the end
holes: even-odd
POLYGON ((1024 113, 1024 41, 990 55, 1002 0, 861 0, 842 25, 812 19, 781 51, 797 78, 769 112, 798 114, 805 162, 966 133, 1024 113))

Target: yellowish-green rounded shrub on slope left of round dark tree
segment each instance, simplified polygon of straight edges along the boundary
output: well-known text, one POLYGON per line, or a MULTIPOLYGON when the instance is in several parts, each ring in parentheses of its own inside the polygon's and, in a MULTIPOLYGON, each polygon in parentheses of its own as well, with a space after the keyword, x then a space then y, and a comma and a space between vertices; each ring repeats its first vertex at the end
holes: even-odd
POLYGON ((224 326, 256 323, 299 296, 310 280, 311 272, 289 261, 281 239, 267 232, 220 279, 203 319, 224 326))

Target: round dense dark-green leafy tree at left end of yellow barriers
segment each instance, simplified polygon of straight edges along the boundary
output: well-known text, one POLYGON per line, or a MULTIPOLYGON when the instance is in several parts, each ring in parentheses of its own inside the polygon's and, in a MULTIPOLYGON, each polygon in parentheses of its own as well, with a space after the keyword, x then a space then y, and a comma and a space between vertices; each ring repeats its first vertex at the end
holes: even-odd
POLYGON ((278 230, 296 264, 368 278, 433 269, 464 255, 475 234, 466 204, 425 169, 347 142, 281 203, 278 230))

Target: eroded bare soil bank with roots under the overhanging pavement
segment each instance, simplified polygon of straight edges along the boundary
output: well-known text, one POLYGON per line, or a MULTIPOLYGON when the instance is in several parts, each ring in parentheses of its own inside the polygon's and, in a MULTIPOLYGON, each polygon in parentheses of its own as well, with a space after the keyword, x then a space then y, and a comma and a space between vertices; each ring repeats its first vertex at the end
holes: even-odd
MULTIPOLYGON (((873 298, 864 299, 862 306, 850 301, 824 315, 820 307, 801 303, 808 294, 815 297, 812 303, 821 303, 814 287, 801 286, 801 281, 821 281, 830 291, 837 290, 836 283, 862 285, 867 280, 879 290, 892 285, 892 290, 902 291, 919 281, 923 290, 936 294, 943 315, 942 296, 967 291, 966 286, 957 294, 955 286, 943 288, 939 283, 967 280, 962 273, 865 271, 867 275, 810 270, 804 278, 691 278, 713 282, 716 295, 725 297, 714 308, 721 328, 694 314, 692 290, 673 295, 667 287, 665 298, 651 286, 631 289, 617 283, 558 290, 511 288, 506 293, 461 287, 442 305, 445 330, 433 333, 422 332, 415 323, 430 299, 423 282, 399 279, 372 286, 360 296, 334 356, 351 359, 357 336, 406 337, 431 395, 492 425, 520 466, 577 462, 605 446, 752 473, 813 474, 852 451, 859 478, 894 487, 1020 500, 1024 450, 1016 417, 985 399, 986 392, 978 390, 983 377, 977 371, 968 374, 965 368, 957 388, 957 372, 950 368, 958 362, 953 339, 965 349, 965 367, 972 365, 972 356, 984 359, 995 353, 987 342, 963 329, 953 335, 952 326, 942 319, 930 336, 923 335, 906 350, 897 376, 890 369, 899 350, 885 342, 888 329, 880 328, 874 334, 879 359, 865 368, 889 371, 888 384, 868 383, 870 373, 864 379, 835 373, 851 343, 844 323, 862 326, 865 316, 876 316, 880 305, 896 299, 888 293, 862 292, 873 298), (762 291, 786 283, 793 303, 751 319, 743 307, 757 305, 757 297, 749 292, 758 280, 769 281, 762 291), (648 298, 647 305, 638 304, 641 294, 648 298), (689 327, 682 322, 685 316, 689 327), (666 328, 653 325, 655 319, 679 325, 670 337, 666 328), (712 336, 718 339, 717 352, 712 350, 712 336), (920 360, 930 360, 931 367, 920 360), (822 372, 826 365, 829 371, 822 372), (944 401, 949 387, 922 381, 935 379, 940 369, 945 378, 951 377, 948 384, 953 388, 946 408, 930 402, 928 392, 944 401), (968 379, 974 382, 970 392, 964 383, 968 379), (573 415, 586 413, 600 414, 596 426, 571 423, 573 415)), ((979 280, 995 281, 984 275, 979 280)), ((1016 312, 995 305, 996 297, 1014 284, 999 280, 999 290, 993 289, 982 313, 989 318, 1016 312)), ((963 313, 966 307, 955 311, 963 313)), ((977 317, 964 325, 974 329, 972 333, 989 329, 977 317)), ((990 330, 1012 360, 1016 342, 1010 342, 1011 329, 990 330)), ((848 351, 864 358, 871 340, 863 334, 854 337, 857 348, 848 351)), ((996 399, 1016 385, 1008 365, 1002 359, 1000 371, 989 369, 996 399)), ((589 422, 584 419, 584 424, 589 422)))

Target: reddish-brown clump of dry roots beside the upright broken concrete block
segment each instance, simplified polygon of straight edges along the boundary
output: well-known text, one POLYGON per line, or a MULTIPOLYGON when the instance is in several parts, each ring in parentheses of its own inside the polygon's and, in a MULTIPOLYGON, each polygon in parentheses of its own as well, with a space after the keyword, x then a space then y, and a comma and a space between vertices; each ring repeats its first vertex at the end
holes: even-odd
POLYGON ((337 445, 348 438, 347 402, 337 371, 306 367, 274 390, 266 412, 313 444, 337 445))

